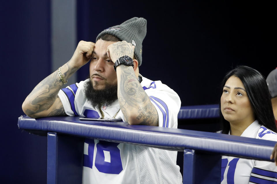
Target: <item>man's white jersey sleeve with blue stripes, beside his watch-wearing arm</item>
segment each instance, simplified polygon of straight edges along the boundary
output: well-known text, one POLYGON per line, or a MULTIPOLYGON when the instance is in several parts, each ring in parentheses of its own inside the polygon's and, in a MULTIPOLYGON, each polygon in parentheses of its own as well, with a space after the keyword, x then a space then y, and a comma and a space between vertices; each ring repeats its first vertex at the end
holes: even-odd
POLYGON ((159 127, 177 128, 177 116, 181 107, 177 93, 160 81, 154 81, 143 89, 158 112, 159 127))

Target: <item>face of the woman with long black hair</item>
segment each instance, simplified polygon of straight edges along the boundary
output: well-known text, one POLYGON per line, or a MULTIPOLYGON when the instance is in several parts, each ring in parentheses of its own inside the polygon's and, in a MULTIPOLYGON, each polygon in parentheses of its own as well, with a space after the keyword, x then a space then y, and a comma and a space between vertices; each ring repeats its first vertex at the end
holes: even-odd
POLYGON ((255 120, 245 87, 236 76, 231 76, 226 81, 220 98, 220 104, 224 119, 230 123, 249 124, 255 120))

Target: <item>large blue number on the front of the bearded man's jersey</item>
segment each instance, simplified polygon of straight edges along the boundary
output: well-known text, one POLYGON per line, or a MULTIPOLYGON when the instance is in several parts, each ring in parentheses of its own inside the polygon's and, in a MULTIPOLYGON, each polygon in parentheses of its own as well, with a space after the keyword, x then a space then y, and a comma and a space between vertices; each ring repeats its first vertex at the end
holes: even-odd
MULTIPOLYGON (((89 144, 88 155, 84 154, 83 166, 92 168, 93 167, 93 154, 94 154, 94 140, 86 140, 89 144)), ((96 156, 95 156, 95 167, 101 173, 106 174, 119 174, 123 168, 120 157, 120 150, 117 145, 119 143, 99 141, 96 144, 96 156)))

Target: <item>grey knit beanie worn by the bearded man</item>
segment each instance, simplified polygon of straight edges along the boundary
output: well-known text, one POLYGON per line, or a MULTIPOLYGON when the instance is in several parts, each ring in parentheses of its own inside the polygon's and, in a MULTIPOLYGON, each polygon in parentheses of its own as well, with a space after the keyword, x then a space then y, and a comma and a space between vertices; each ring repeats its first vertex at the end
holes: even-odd
POLYGON ((141 66, 142 41, 146 35, 146 22, 147 21, 144 18, 131 18, 120 25, 107 28, 100 32, 96 38, 96 41, 103 34, 111 34, 119 38, 121 41, 125 40, 128 43, 132 43, 132 45, 135 46, 134 55, 139 62, 139 66, 141 66))

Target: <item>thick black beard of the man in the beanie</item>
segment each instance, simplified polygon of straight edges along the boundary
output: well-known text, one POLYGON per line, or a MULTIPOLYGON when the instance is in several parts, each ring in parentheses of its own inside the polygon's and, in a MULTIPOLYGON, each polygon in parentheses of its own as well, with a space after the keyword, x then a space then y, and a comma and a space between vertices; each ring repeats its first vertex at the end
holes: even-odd
MULTIPOLYGON (((97 83, 95 86, 97 86, 97 83)), ((117 100, 117 84, 106 84, 104 89, 96 90, 93 88, 91 80, 88 80, 84 84, 84 91, 93 108, 99 108, 100 105, 109 106, 117 100)))

